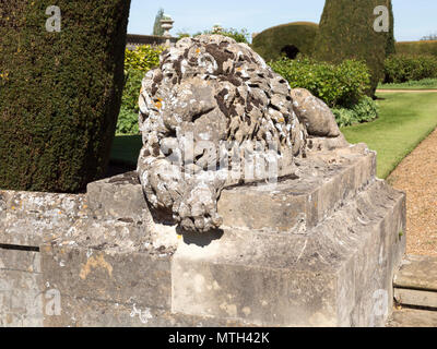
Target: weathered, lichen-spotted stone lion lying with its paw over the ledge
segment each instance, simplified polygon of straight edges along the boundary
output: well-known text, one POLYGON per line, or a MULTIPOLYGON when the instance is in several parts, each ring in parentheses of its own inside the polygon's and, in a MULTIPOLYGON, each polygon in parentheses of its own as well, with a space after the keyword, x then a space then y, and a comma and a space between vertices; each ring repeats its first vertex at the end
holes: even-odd
POLYGON ((139 100, 138 172, 152 208, 172 213, 184 230, 215 229, 223 188, 267 180, 263 163, 275 164, 277 177, 292 173, 294 159, 305 157, 307 130, 340 135, 324 104, 299 91, 299 108, 291 93, 248 45, 228 37, 184 38, 164 51, 139 100), (319 128, 308 105, 319 111, 316 119, 326 119, 319 128))

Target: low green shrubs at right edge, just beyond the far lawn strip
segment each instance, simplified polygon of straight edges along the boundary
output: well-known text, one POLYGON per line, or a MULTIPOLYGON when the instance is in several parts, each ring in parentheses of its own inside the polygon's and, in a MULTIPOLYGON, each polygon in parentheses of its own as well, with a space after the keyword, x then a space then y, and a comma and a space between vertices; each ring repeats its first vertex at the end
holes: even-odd
POLYGON ((393 55, 386 59, 385 83, 404 83, 437 77, 437 58, 393 55))

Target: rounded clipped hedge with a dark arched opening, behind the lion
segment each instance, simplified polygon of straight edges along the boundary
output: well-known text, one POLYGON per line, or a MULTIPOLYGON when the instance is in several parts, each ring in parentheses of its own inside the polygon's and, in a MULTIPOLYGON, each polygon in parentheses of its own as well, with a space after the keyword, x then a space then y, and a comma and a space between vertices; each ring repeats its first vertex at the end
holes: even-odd
POLYGON ((258 34, 252 40, 252 49, 264 60, 281 58, 282 50, 295 46, 305 56, 311 56, 319 26, 311 22, 295 22, 274 26, 258 34))

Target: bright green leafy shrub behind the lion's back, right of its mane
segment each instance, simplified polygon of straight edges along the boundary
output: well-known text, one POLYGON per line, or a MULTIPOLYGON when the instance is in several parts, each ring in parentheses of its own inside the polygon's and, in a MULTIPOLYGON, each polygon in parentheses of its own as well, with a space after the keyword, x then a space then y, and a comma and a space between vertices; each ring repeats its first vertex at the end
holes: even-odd
POLYGON ((354 105, 365 95, 370 82, 366 64, 353 60, 334 65, 308 58, 283 58, 271 67, 292 88, 306 88, 330 107, 354 105))

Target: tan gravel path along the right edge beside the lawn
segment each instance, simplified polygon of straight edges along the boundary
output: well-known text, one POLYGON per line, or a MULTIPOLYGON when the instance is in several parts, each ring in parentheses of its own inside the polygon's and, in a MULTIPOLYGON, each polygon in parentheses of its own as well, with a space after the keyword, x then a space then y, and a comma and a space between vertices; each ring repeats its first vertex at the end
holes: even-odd
POLYGON ((437 129, 389 176, 406 192, 406 253, 437 256, 437 129))

